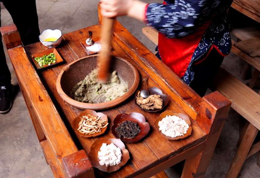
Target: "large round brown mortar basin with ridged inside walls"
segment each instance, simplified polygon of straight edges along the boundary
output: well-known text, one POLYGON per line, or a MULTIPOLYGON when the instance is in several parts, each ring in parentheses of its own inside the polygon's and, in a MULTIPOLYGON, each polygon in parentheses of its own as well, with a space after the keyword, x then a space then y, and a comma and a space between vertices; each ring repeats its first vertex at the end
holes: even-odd
POLYGON ((117 71, 118 76, 128 83, 128 92, 115 100, 103 103, 83 103, 69 97, 73 87, 93 71, 97 63, 98 54, 78 59, 62 69, 57 79, 56 88, 61 98, 69 105, 79 109, 108 109, 119 105, 135 93, 140 81, 137 69, 125 59, 113 57, 111 73, 117 71))

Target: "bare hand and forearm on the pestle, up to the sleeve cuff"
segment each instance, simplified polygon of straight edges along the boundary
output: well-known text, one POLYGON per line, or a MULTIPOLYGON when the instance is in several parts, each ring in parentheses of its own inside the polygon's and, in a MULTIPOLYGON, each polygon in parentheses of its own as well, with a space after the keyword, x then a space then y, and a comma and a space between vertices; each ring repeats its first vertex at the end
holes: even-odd
POLYGON ((129 16, 145 21, 147 3, 139 0, 100 0, 101 13, 105 17, 129 16))

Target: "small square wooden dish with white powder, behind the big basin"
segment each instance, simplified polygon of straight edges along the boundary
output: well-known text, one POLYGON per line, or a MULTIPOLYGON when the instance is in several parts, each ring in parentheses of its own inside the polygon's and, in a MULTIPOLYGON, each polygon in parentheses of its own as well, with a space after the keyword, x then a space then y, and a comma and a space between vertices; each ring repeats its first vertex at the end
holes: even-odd
POLYGON ((80 42, 88 55, 97 54, 101 49, 101 37, 92 38, 92 41, 91 45, 86 44, 86 40, 80 42))

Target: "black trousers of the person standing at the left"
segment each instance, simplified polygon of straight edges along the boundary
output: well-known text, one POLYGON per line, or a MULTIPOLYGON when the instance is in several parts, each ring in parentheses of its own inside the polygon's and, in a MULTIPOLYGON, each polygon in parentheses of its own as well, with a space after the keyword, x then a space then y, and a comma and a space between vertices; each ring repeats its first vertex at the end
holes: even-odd
MULTIPOLYGON (((32 44, 39 41, 40 35, 38 16, 35 0, 13 1, 0 0, 10 13, 17 30, 20 33, 23 45, 32 44)), ((0 14, 1 18, 1 14, 0 14)), ((1 22, 0 22, 1 26, 1 22)), ((6 64, 2 35, 0 34, 0 85, 11 84, 11 73, 6 64)))

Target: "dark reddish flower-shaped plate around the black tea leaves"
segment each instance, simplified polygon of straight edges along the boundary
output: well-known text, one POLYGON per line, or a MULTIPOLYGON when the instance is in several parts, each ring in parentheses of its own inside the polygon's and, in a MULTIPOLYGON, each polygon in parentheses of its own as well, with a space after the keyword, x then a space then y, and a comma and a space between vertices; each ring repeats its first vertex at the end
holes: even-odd
POLYGON ((142 138, 144 138, 148 132, 150 131, 150 125, 148 122, 145 121, 145 117, 138 113, 138 112, 132 112, 130 114, 118 114, 114 119, 114 125, 111 128, 112 134, 115 136, 115 138, 120 138, 123 142, 126 143, 136 143, 142 138), (141 128, 141 132, 139 132, 135 138, 123 138, 119 137, 118 133, 116 131, 116 128, 119 124, 121 124, 123 121, 133 121, 138 124, 138 126, 141 128))

